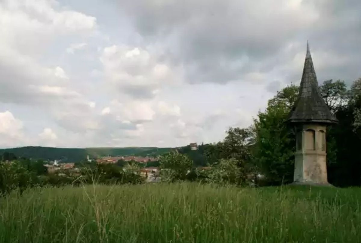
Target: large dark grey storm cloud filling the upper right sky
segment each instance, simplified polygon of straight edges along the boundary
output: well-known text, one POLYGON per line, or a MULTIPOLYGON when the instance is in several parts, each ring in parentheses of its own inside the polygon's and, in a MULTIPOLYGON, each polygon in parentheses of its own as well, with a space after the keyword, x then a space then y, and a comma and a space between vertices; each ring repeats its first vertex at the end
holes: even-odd
MULTIPOLYGON (((267 73, 304 52, 307 39, 313 51, 332 53, 328 58, 348 56, 336 69, 320 67, 321 78, 351 81, 360 75, 360 1, 171 0, 144 4, 135 0, 118 4, 145 40, 164 42, 168 61, 182 64, 191 83, 226 83, 245 80, 249 72, 267 73), (282 58, 283 48, 290 44, 297 48, 282 58)), ((322 61, 330 61, 325 58, 322 61)), ((292 79, 287 83, 299 80, 299 70, 287 71, 285 77, 292 79)))

